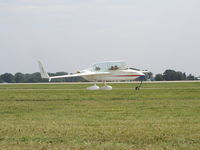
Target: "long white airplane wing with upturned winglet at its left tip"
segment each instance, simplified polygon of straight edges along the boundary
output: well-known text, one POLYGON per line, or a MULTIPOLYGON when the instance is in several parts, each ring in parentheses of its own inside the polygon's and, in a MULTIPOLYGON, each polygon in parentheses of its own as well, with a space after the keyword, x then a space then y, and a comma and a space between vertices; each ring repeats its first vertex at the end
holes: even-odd
POLYGON ((75 73, 75 74, 70 74, 70 75, 61 75, 61 76, 49 76, 48 73, 45 71, 42 63, 40 61, 38 61, 38 65, 40 68, 40 74, 41 77, 44 79, 49 79, 49 81, 51 81, 51 79, 58 79, 58 78, 69 78, 69 77, 79 77, 79 76, 93 76, 93 75, 106 75, 106 74, 110 74, 110 72, 91 72, 91 71, 87 71, 87 72, 81 72, 81 73, 75 73))

